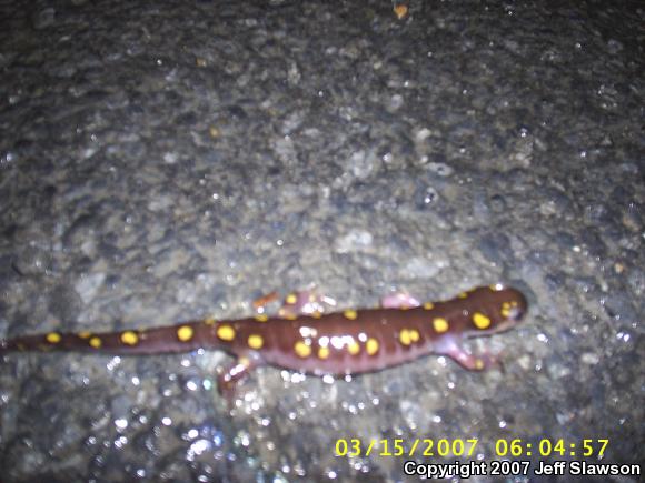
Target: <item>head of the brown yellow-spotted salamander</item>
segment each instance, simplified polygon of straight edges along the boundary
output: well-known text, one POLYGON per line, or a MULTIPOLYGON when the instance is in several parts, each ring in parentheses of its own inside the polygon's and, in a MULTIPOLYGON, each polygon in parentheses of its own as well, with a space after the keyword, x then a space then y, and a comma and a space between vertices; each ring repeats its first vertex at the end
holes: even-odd
POLYGON ((467 332, 473 336, 507 331, 519 323, 528 310, 520 291, 500 283, 475 289, 467 293, 467 299, 472 324, 467 332))

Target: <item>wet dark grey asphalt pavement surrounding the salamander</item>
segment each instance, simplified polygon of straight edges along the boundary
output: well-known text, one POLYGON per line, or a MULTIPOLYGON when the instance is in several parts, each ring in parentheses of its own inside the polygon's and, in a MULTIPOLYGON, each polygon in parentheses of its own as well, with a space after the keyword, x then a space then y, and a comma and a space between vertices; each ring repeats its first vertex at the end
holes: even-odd
POLYGON ((455 460, 424 440, 645 461, 644 4, 399 13, 0 3, 0 335, 242 318, 311 283, 341 308, 496 282, 530 304, 469 344, 499 369, 262 368, 231 413, 218 351, 4 355, 3 483, 417 481, 406 460, 455 460), (361 454, 337 456, 349 440, 361 454))

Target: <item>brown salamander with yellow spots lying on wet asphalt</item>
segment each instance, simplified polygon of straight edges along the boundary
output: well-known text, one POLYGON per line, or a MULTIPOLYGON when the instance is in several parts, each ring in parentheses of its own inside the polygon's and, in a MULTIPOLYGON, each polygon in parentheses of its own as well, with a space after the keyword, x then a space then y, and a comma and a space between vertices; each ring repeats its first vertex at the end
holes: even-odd
POLYGON ((433 353, 449 356, 466 369, 483 370, 493 359, 465 352, 464 339, 510 329, 527 311, 522 292, 502 284, 476 288, 448 301, 416 303, 418 306, 329 314, 206 319, 111 333, 50 332, 0 341, 0 354, 62 350, 129 355, 218 349, 236 358, 219 378, 219 389, 226 392, 264 364, 316 375, 348 375, 433 353))

